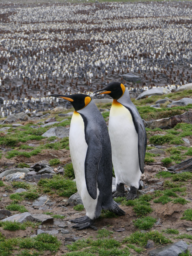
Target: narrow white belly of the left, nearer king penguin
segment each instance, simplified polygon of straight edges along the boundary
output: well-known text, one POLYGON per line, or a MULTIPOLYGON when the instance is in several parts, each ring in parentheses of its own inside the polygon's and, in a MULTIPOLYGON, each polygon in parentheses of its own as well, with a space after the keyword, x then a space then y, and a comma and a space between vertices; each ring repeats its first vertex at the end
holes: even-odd
POLYGON ((85 140, 83 118, 76 111, 72 116, 70 124, 69 147, 78 193, 80 194, 84 208, 86 209, 86 216, 88 216, 90 219, 94 219, 99 190, 97 188, 96 199, 93 199, 87 190, 85 180, 85 158, 88 145, 85 140))

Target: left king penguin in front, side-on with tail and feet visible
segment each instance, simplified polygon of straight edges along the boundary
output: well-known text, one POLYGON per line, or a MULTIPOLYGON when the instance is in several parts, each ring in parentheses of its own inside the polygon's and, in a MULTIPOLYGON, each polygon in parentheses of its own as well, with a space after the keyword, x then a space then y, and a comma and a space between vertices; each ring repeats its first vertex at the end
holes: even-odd
POLYGON ((86 216, 71 220, 78 230, 88 228, 108 209, 122 216, 112 198, 112 153, 108 129, 94 101, 86 94, 50 96, 63 98, 73 105, 69 133, 69 147, 77 190, 81 196, 86 216))

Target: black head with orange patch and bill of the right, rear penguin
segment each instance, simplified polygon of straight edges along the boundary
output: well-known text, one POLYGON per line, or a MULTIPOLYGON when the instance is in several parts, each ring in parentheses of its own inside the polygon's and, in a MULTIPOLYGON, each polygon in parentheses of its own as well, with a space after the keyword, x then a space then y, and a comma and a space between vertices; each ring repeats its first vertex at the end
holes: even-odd
POLYGON ((94 93, 96 92, 100 92, 96 95, 109 94, 114 100, 118 100, 124 94, 125 86, 120 82, 112 82, 108 84, 105 88, 95 91, 94 93))

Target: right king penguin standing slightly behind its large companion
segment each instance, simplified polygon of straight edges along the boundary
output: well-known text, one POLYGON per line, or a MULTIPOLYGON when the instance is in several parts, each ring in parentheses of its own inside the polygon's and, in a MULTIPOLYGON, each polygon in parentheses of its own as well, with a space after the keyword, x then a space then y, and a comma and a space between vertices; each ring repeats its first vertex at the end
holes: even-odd
POLYGON ((116 191, 113 196, 124 196, 126 184, 130 186, 126 198, 133 200, 140 187, 141 173, 144 172, 147 137, 142 118, 132 103, 128 90, 120 82, 112 82, 96 92, 99 92, 96 95, 109 94, 113 98, 108 125, 116 176, 116 191))

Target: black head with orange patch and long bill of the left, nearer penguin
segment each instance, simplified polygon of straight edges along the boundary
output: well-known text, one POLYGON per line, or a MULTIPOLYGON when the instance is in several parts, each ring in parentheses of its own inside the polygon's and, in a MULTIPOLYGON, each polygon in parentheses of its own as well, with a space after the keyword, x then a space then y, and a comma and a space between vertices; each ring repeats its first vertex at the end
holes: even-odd
POLYGON ((90 96, 80 93, 72 95, 51 94, 50 96, 70 101, 76 111, 86 107, 91 101, 90 96))

